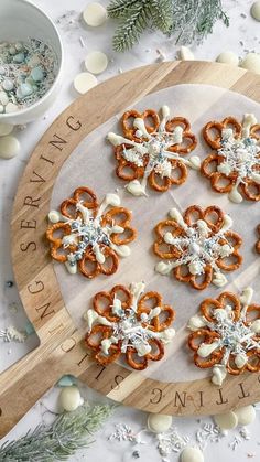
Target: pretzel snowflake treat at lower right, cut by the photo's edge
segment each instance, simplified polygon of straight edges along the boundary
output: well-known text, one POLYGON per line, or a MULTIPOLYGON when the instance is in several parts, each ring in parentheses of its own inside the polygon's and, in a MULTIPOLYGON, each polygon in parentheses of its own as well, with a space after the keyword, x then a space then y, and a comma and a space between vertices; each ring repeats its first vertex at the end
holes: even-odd
POLYGON ((201 313, 188 321, 194 363, 213 367, 215 385, 221 386, 227 373, 260 370, 260 305, 251 304, 252 294, 247 288, 240 297, 223 292, 217 299, 206 299, 201 313))

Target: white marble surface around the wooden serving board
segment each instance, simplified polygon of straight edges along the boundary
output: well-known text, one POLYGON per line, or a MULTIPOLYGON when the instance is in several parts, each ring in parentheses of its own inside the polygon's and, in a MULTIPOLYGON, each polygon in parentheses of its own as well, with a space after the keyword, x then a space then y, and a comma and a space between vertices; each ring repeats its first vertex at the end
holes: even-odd
MULTIPOLYGON (((21 152, 18 158, 4 161, 0 160, 0 216, 1 216, 1 233, 0 233, 0 331, 8 325, 14 325, 23 329, 25 324, 25 315, 19 302, 19 297, 15 287, 9 288, 6 281, 12 280, 12 269, 10 262, 10 244, 9 244, 9 222, 12 208, 12 201, 15 194, 18 180, 23 172, 24 165, 32 152, 33 147, 39 141, 45 129, 55 119, 55 117, 76 97, 72 88, 74 76, 82 71, 82 62, 88 51, 101 50, 110 58, 108 69, 98 77, 101 82, 121 71, 127 71, 132 67, 153 63, 160 49, 167 60, 173 60, 177 47, 173 39, 165 39, 159 33, 147 33, 142 39, 141 44, 130 53, 124 55, 115 54, 111 51, 111 36, 113 26, 108 21, 101 28, 89 30, 83 28, 78 23, 80 11, 89 2, 87 0, 34 0, 35 4, 44 8, 50 15, 57 21, 59 18, 59 31, 63 36, 65 45, 65 71, 64 83, 62 92, 53 108, 41 120, 32 123, 25 130, 19 132, 18 137, 21 142, 21 152), (64 13, 73 10, 71 22, 66 18, 62 18, 64 13), (79 43, 79 37, 84 40, 85 47, 79 43)), ((105 6, 108 1, 102 0, 105 6)), ((193 51, 195 57, 199 60, 215 60, 216 56, 226 50, 231 50, 239 56, 243 56, 247 51, 260 51, 260 23, 250 18, 249 9, 252 1, 250 0, 224 0, 224 6, 230 15, 230 28, 226 29, 221 23, 218 23, 213 35, 199 47, 194 46, 193 51)), ((26 352, 32 350, 37 344, 37 339, 31 335, 24 344, 3 343, 0 339, 0 370, 4 370, 9 365, 13 364, 26 352)), ((47 396, 43 398, 11 431, 9 439, 17 438, 26 432, 31 427, 35 427, 40 421, 50 419, 47 413, 44 413, 46 406, 48 409, 56 409, 58 390, 51 390, 47 396)), ((97 394, 90 391, 85 386, 83 394, 96 401, 102 399, 97 394)), ((133 461, 133 448, 130 443, 108 442, 107 437, 113 431, 113 425, 118 422, 127 422, 132 426, 133 430, 139 431, 145 423, 145 415, 143 412, 120 408, 116 415, 109 420, 104 430, 97 434, 96 442, 90 449, 80 451, 74 455, 71 461, 88 460, 101 461, 106 455, 107 462, 133 461)), ((195 443, 195 432, 204 422, 209 419, 202 419, 198 422, 196 419, 176 419, 175 423, 182 434, 189 436, 191 442, 195 443)), ((205 450, 205 461, 216 462, 221 458, 223 461, 243 462, 260 459, 260 440, 259 440, 259 422, 260 416, 258 412, 257 420, 250 426, 251 439, 249 441, 242 440, 236 451, 232 451, 229 444, 234 441, 238 431, 235 430, 225 437, 218 443, 209 443, 205 450)), ((150 442, 139 447, 140 461, 159 462, 161 458, 156 451, 155 441, 151 436, 144 434, 144 440, 150 442)), ((137 448, 134 448, 136 450, 137 448)), ((171 454, 170 461, 178 460, 178 454, 171 454)))

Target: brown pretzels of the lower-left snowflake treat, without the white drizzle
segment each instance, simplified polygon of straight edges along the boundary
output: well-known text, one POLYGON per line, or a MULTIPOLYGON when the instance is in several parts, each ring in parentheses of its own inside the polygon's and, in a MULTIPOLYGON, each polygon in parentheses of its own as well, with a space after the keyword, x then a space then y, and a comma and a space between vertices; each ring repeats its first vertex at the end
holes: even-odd
MULTIPOLYGON (((120 322, 124 322, 132 316, 133 296, 124 286, 115 286, 110 291, 101 291, 95 294, 93 299, 93 308, 98 315, 106 319, 111 325, 96 324, 91 326, 90 332, 85 336, 85 344, 93 351, 94 358, 102 365, 108 365, 116 361, 122 354, 123 337, 118 341, 112 339, 108 344, 108 354, 102 350, 102 341, 115 336, 116 332, 122 332, 120 322), (115 300, 120 300, 120 307, 124 311, 122 314, 113 311, 115 300), (116 327, 118 324, 118 327, 116 327)), ((119 308, 120 308, 119 307, 119 308)), ((175 312, 172 307, 163 304, 162 296, 159 292, 150 291, 144 293, 137 302, 134 308, 137 325, 147 332, 160 333, 165 331, 172 324, 175 312), (152 313, 153 309, 160 308, 160 312, 152 313), (151 318, 150 316, 151 313, 151 318)), ((131 318, 132 320, 132 318, 131 318)), ((138 354, 134 345, 128 344, 126 351, 126 362, 130 367, 142 370, 148 366, 149 361, 160 361, 164 355, 164 346, 162 340, 151 334, 147 342, 151 346, 151 351, 142 356, 138 354)), ((124 346, 126 347, 126 346, 124 346)))

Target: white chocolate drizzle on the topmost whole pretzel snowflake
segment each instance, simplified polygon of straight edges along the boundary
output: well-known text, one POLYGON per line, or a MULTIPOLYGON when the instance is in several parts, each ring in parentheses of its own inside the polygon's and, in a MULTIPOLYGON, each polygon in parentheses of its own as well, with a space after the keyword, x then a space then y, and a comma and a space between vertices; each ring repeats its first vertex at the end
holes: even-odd
POLYGON ((197 155, 193 155, 188 160, 181 157, 177 152, 169 151, 171 146, 182 144, 183 128, 182 126, 176 126, 173 132, 166 131, 165 126, 170 120, 170 108, 167 106, 163 106, 161 112, 162 120, 160 127, 158 131, 152 133, 147 131, 143 119, 134 119, 133 127, 137 128, 134 135, 140 138, 140 142, 129 140, 128 138, 113 132, 109 132, 107 137, 113 146, 123 144, 122 155, 128 162, 131 162, 137 166, 144 168, 143 179, 141 181, 132 180, 126 186, 127 191, 134 196, 147 195, 148 178, 152 171, 160 174, 162 179, 165 176, 171 178, 173 165, 170 161, 172 159, 183 162, 191 169, 201 169, 201 159, 197 155), (130 144, 131 148, 127 149, 126 144, 130 144), (147 159, 149 159, 148 164, 147 159))

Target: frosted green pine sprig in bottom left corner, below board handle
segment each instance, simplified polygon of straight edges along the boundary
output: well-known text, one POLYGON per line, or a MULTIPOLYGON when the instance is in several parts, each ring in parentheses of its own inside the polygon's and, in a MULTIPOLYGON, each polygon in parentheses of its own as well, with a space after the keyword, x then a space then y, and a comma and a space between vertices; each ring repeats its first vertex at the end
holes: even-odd
POLYGON ((0 448, 1 462, 65 461, 80 448, 87 448, 93 433, 111 415, 110 406, 87 405, 74 412, 62 413, 48 427, 39 426, 24 437, 7 441, 0 448))

